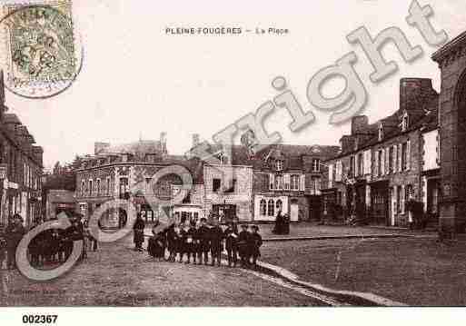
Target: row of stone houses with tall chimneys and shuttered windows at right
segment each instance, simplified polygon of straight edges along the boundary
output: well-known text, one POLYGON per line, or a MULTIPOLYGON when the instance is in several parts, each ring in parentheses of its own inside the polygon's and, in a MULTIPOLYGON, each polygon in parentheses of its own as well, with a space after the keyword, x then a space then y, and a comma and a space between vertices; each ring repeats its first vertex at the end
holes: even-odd
POLYGON ((428 195, 421 174, 434 180, 435 171, 427 173, 431 166, 423 162, 424 147, 431 149, 429 132, 437 129, 437 106, 430 79, 403 78, 400 107, 394 114, 371 124, 364 115, 353 117, 351 134, 341 138, 341 153, 326 162, 324 215, 405 226, 409 199, 431 207, 427 199, 435 197, 435 183, 428 195))

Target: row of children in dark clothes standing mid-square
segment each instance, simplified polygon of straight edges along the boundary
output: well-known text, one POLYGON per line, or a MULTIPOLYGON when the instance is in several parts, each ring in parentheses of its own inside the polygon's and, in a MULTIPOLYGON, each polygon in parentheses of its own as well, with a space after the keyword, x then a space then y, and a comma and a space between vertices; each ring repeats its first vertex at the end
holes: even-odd
POLYGON ((217 220, 209 225, 205 218, 200 223, 174 223, 161 231, 155 226, 147 251, 159 261, 183 262, 185 257, 185 263, 193 259, 194 264, 205 265, 209 263, 210 254, 210 264, 220 266, 222 252, 226 250, 229 267, 236 267, 238 256, 242 267, 255 267, 263 240, 257 225, 252 225, 251 231, 248 229, 248 225, 243 224, 238 232, 236 222, 231 222, 223 230, 217 220))

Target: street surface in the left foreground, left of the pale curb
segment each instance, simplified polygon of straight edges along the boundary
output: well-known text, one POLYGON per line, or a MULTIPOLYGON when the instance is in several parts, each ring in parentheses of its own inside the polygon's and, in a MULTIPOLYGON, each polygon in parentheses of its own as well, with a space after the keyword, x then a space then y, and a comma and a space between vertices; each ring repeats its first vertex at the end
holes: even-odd
POLYGON ((322 301, 240 269, 154 262, 132 238, 104 243, 51 282, 2 270, 2 306, 312 306, 322 301))

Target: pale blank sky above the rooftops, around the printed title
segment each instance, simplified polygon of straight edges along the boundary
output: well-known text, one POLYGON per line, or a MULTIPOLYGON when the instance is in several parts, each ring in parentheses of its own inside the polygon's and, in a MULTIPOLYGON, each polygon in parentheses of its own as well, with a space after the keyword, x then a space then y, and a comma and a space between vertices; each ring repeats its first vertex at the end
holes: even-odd
MULTIPOLYGON (((6 1, 1 1, 5 3, 6 1)), ((12 1, 8 1, 12 2, 12 1)), ((245 114, 253 113, 278 93, 271 82, 283 75, 305 111, 316 121, 292 133, 283 109, 266 121, 269 133, 283 143, 338 144, 349 123, 331 125, 329 112, 306 98, 312 75, 354 51, 356 70, 369 102, 362 114, 374 122, 399 105, 399 80, 426 77, 440 89, 440 71, 431 61, 436 48, 422 39, 405 18, 411 1, 76 1, 75 33, 84 47, 84 62, 74 84, 45 100, 6 93, 10 113, 17 114, 45 149, 45 166, 71 162, 75 154, 94 153, 94 142, 127 143, 158 139, 167 133, 169 153, 188 150, 192 134, 211 140, 245 114), (399 72, 372 84, 372 66, 346 35, 365 26, 374 36, 397 26, 424 55, 410 64, 392 44, 382 53, 399 72), (286 28, 287 35, 166 35, 166 27, 232 26, 255 30, 286 28)), ((421 0, 431 5, 431 23, 450 38, 466 31, 466 2, 421 0)), ((323 94, 338 94, 344 83, 332 80, 323 94)))

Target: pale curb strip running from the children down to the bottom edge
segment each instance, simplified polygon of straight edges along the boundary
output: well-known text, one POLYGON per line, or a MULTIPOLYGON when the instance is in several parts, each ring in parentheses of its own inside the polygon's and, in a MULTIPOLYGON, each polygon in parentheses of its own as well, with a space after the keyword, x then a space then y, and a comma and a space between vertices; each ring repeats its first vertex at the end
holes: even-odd
POLYGON ((303 286, 308 288, 311 291, 315 291, 319 294, 329 296, 332 298, 337 299, 338 301, 342 301, 345 303, 350 303, 352 305, 357 306, 365 306, 365 307, 403 307, 408 306, 406 303, 402 303, 399 301, 392 301, 390 299, 381 297, 376 294, 372 294, 369 292, 357 292, 357 291, 338 291, 327 288, 322 284, 311 283, 311 282, 304 282, 299 279, 299 276, 282 268, 279 266, 275 266, 273 264, 267 262, 257 262, 257 264, 265 270, 264 272, 269 272, 279 277, 285 279, 288 282, 293 284, 303 286))

